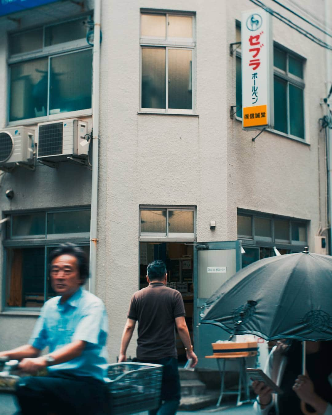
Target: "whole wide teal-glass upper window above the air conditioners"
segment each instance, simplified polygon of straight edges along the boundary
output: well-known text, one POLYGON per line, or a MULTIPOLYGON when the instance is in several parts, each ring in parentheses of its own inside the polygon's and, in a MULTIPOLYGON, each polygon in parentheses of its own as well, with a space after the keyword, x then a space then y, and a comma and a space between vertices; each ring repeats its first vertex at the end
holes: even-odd
POLYGON ((87 19, 9 35, 10 122, 91 109, 87 19))

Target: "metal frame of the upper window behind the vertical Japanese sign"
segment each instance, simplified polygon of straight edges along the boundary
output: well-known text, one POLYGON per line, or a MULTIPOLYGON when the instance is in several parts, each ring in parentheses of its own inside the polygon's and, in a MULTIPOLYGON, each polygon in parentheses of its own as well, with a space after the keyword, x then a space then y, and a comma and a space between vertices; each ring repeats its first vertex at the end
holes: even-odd
MULTIPOLYGON (((240 22, 236 21, 235 24, 236 30, 241 30, 241 24, 240 22)), ((266 128, 266 131, 273 132, 274 134, 282 135, 283 137, 287 137, 290 139, 293 139, 295 141, 301 142, 303 144, 309 144, 306 140, 306 130, 305 130, 305 62, 307 59, 305 59, 303 56, 297 54, 294 51, 291 51, 291 49, 286 48, 285 46, 279 44, 276 41, 273 41, 273 52, 275 49, 279 49, 280 51, 284 52, 286 54, 286 71, 283 71, 280 68, 277 68, 273 64, 273 82, 274 79, 281 78, 283 81, 286 81, 286 107, 287 107, 287 132, 279 131, 275 128, 266 128), (289 73, 289 56, 294 57, 295 59, 301 61, 302 63, 302 69, 303 69, 303 78, 299 78, 296 75, 293 75, 292 73, 289 73), (290 122, 290 104, 289 104, 289 85, 294 85, 296 88, 299 88, 302 90, 303 94, 303 138, 295 136, 291 134, 291 122, 290 122)), ((240 47, 235 51, 234 53, 234 66, 235 66, 235 91, 236 91, 236 59, 242 59, 241 54, 241 45, 240 47)), ((236 92, 235 92, 236 96, 236 92)), ((274 97, 273 97, 274 99, 274 97)), ((241 108, 236 109, 236 120, 242 121, 242 104, 241 108), (241 111, 241 115, 237 115, 238 112, 241 111)))

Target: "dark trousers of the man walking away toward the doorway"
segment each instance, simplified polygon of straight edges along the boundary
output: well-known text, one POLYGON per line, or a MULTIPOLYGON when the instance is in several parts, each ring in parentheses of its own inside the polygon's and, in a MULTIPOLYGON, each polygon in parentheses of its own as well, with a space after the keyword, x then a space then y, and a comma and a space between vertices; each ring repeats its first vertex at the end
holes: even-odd
POLYGON ((176 414, 181 398, 180 376, 178 371, 178 359, 164 357, 162 359, 137 359, 142 363, 162 364, 163 378, 161 381, 161 403, 159 408, 149 411, 150 415, 176 414))

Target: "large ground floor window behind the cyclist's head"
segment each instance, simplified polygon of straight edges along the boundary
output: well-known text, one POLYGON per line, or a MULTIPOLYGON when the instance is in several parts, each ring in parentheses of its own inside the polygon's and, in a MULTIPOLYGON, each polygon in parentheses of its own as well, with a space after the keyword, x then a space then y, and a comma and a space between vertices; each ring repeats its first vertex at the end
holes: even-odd
POLYGON ((40 308, 56 295, 49 281, 49 254, 75 242, 89 255, 90 207, 7 215, 4 241, 5 303, 2 308, 40 308))

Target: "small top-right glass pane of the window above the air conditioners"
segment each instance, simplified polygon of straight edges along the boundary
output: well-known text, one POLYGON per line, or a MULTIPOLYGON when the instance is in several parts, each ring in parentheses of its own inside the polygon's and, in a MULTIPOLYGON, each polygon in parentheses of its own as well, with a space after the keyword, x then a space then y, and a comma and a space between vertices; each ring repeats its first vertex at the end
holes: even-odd
POLYGON ((85 39, 87 17, 45 27, 45 46, 85 39))

